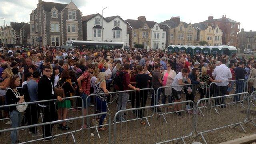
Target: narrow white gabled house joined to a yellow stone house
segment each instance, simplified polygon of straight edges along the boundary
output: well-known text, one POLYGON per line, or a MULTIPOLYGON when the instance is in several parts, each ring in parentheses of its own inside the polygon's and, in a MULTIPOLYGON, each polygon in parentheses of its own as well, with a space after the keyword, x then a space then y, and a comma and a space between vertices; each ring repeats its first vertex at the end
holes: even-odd
POLYGON ((156 23, 151 28, 151 47, 154 49, 165 49, 166 32, 156 23))

